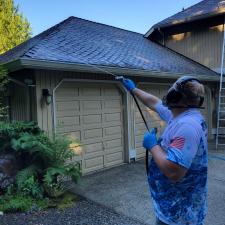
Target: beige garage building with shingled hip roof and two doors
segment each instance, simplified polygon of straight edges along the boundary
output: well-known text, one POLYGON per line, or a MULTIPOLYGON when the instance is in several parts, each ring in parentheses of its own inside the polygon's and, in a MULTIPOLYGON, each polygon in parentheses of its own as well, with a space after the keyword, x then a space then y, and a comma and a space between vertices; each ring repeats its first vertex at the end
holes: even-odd
MULTIPOLYGON (((0 63, 10 70, 11 120, 35 120, 49 134, 77 138, 84 174, 145 154, 145 126, 115 75, 160 97, 182 75, 201 79, 203 113, 212 129, 218 74, 142 34, 69 17, 1 55, 0 63)), ((161 130, 156 114, 142 109, 150 127, 161 130)))

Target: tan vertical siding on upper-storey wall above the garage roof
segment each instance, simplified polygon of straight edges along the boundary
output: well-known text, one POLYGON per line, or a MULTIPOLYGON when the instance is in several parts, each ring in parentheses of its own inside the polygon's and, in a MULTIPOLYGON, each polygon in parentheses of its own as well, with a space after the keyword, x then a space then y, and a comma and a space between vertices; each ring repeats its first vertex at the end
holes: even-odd
POLYGON ((222 42, 222 25, 199 28, 195 31, 170 35, 165 38, 166 47, 211 69, 220 67, 222 42))

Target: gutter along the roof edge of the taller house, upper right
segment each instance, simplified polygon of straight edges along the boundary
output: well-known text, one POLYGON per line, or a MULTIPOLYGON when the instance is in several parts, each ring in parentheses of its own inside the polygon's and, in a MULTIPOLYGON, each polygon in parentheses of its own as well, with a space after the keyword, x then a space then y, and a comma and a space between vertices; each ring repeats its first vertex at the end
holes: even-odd
POLYGON ((216 12, 211 12, 211 13, 206 13, 206 14, 202 14, 199 16, 194 16, 194 17, 189 17, 189 18, 185 18, 185 19, 181 19, 181 20, 173 20, 172 22, 168 22, 168 23, 164 23, 161 26, 157 26, 154 25, 153 27, 150 28, 150 30, 147 31, 147 33, 144 35, 145 38, 148 38, 154 31, 161 29, 161 28, 167 28, 167 27, 172 27, 172 26, 176 26, 176 25, 181 25, 181 24, 185 24, 185 23, 190 23, 190 22, 194 22, 197 20, 202 20, 202 19, 207 19, 213 16, 220 16, 223 15, 225 13, 225 10, 221 10, 220 13, 218 13, 218 11, 216 12))

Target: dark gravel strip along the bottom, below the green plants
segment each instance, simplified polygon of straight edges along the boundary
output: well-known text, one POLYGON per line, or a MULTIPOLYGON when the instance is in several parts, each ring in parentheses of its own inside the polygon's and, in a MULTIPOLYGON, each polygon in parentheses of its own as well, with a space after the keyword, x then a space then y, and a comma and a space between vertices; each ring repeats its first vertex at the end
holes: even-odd
POLYGON ((0 216, 1 225, 143 225, 111 209, 86 199, 71 208, 49 209, 36 213, 15 213, 0 216))

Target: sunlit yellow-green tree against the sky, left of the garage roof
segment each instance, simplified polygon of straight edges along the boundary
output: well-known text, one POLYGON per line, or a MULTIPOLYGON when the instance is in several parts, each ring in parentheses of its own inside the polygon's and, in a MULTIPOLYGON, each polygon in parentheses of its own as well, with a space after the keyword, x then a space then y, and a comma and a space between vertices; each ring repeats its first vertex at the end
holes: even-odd
POLYGON ((0 54, 28 40, 31 27, 13 0, 0 0, 0 54))

